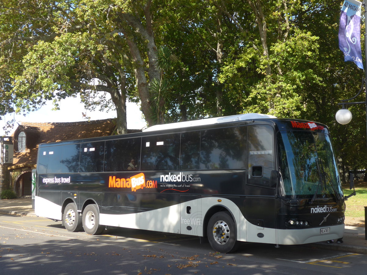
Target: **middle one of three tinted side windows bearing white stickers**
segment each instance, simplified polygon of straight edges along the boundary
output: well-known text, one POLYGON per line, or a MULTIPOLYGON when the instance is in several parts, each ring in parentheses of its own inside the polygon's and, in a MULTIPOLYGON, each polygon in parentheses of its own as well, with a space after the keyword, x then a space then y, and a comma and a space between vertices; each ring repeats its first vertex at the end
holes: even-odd
POLYGON ((103 172, 105 142, 80 144, 79 172, 103 172))

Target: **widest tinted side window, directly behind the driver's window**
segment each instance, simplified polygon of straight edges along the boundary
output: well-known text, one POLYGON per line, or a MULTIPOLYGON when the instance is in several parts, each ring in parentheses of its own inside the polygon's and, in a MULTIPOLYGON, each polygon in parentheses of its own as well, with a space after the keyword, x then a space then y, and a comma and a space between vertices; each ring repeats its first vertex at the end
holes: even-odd
POLYGON ((201 131, 200 169, 246 169, 246 127, 201 131))

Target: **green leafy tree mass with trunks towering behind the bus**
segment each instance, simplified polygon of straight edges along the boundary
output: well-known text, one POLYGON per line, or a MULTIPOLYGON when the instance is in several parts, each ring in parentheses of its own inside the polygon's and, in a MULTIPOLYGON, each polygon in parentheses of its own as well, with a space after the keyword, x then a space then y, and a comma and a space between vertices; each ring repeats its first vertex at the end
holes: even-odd
POLYGON ((338 49, 341 4, 0 0, 0 110, 80 94, 116 110, 118 133, 127 99, 148 125, 250 112, 314 120, 330 126, 345 166, 366 167, 364 107, 348 126, 334 118, 363 77, 338 49))

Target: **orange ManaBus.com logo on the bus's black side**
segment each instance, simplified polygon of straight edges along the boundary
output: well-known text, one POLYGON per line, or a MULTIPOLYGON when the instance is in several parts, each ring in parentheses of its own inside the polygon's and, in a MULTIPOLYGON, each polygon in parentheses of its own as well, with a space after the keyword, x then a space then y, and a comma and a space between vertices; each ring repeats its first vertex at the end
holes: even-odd
POLYGON ((157 188, 157 181, 154 183, 152 180, 145 182, 144 173, 139 173, 135 176, 124 178, 116 178, 116 176, 110 176, 108 181, 108 187, 113 188, 131 188, 131 191, 137 191, 138 189, 147 188, 157 188), (147 185, 148 184, 148 185, 147 185))

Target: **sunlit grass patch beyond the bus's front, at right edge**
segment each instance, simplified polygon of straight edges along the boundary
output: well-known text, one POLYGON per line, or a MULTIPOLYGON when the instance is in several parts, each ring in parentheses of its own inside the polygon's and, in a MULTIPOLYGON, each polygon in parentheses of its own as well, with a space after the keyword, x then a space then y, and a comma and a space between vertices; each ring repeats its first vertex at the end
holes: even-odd
MULTIPOLYGON (((365 181, 355 181, 356 196, 352 196, 345 201, 345 224, 364 226, 364 206, 367 206, 367 183, 365 181)), ((349 190, 349 184, 343 185, 344 195, 349 195, 353 190, 349 190)))

